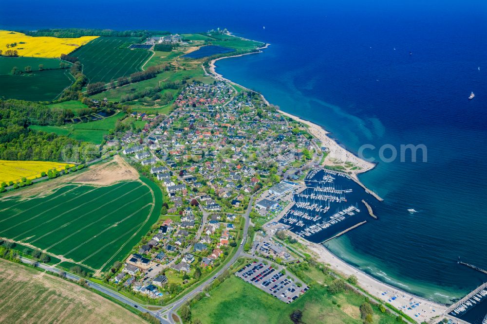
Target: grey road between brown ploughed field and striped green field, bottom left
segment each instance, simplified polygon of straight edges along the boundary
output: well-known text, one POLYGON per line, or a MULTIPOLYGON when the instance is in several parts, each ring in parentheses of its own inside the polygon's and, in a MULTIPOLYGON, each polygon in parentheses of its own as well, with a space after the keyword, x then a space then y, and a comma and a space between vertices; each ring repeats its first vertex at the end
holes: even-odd
MULTIPOLYGON (((20 257, 20 261, 22 261, 23 263, 27 263, 27 264, 31 264, 31 265, 34 265, 36 262, 30 260, 30 259, 26 259, 26 258, 23 258, 23 257, 20 257)), ((53 272, 53 273, 57 273, 57 274, 60 274, 62 272, 64 272, 66 275, 65 277, 67 279, 70 279, 70 280, 74 280, 74 281, 78 281, 79 279, 81 279, 81 277, 73 274, 73 273, 69 273, 69 272, 65 272, 65 271, 62 271, 62 270, 59 270, 59 269, 56 269, 54 268, 53 266, 49 266, 47 264, 43 264, 43 263, 39 263, 37 262, 37 267, 38 268, 41 268, 43 270, 47 270, 47 271, 50 271, 50 272, 53 272)), ((169 324, 168 321, 166 321, 164 318, 160 317, 159 313, 157 312, 152 312, 150 311, 149 309, 146 309, 144 308, 143 306, 141 306, 140 304, 137 304, 135 303, 134 301, 132 301, 131 299, 119 294, 118 292, 116 291, 113 291, 112 289, 110 288, 105 288, 103 286, 100 286, 98 284, 95 284, 89 280, 87 280, 87 284, 90 288, 93 288, 99 292, 102 292, 124 304, 126 304, 127 306, 130 306, 136 310, 140 310, 141 312, 146 312, 146 313, 150 313, 152 316, 155 316, 156 318, 158 318, 161 323, 163 324, 169 324)))

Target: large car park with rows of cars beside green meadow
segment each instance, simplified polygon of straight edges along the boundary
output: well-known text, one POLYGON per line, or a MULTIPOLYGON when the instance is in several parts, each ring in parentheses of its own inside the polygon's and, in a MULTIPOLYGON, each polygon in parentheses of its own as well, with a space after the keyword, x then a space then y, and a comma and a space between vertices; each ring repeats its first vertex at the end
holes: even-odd
POLYGON ((292 275, 282 274, 281 270, 282 267, 277 264, 265 265, 262 261, 254 261, 235 274, 249 284, 279 298, 282 302, 290 304, 305 293, 309 287, 292 275))

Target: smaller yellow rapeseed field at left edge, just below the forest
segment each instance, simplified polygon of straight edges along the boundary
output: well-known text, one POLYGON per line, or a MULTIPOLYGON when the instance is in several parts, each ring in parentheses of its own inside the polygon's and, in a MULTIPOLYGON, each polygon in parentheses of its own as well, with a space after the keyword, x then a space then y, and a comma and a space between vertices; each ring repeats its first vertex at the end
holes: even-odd
MULTIPOLYGON (((0 183, 18 181, 22 178, 36 179, 41 172, 56 168, 60 171, 68 163, 44 161, 7 161, 0 160, 0 183)), ((74 164, 69 164, 72 167, 74 164)))

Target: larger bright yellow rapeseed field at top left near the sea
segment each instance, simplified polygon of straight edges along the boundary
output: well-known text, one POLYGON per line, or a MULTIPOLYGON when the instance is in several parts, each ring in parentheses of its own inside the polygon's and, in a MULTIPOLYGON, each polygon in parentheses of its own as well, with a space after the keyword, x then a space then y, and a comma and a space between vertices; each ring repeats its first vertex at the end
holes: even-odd
POLYGON ((0 30, 0 50, 16 50, 19 56, 60 57, 70 54, 78 47, 88 43, 98 36, 81 36, 78 38, 57 38, 48 36, 27 36, 22 33, 0 30), (20 44, 23 42, 25 44, 20 44), (17 43, 17 46, 7 48, 7 44, 17 43))

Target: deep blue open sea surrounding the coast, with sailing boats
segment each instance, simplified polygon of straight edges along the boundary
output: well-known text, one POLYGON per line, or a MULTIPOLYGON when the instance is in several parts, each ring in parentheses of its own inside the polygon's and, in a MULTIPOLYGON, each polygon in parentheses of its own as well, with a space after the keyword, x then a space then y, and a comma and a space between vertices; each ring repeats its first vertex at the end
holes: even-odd
POLYGON ((217 71, 324 126, 355 153, 364 144, 377 147, 367 151, 376 159, 384 144, 428 148, 426 163, 379 162, 361 175, 385 199, 374 205, 379 219, 327 246, 439 302, 487 281, 456 264, 461 256, 487 269, 486 1, 98 2, 10 1, 0 28, 226 27, 271 43, 261 54, 218 61, 217 71))

